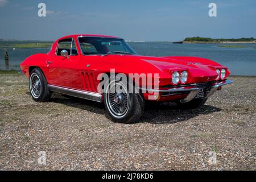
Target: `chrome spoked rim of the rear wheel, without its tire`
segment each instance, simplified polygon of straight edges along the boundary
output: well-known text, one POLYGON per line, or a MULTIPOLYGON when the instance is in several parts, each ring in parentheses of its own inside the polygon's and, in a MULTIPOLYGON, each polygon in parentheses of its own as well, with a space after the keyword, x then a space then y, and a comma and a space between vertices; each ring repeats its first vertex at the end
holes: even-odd
POLYGON ((41 81, 37 73, 32 73, 30 76, 30 92, 34 98, 40 97, 41 81))

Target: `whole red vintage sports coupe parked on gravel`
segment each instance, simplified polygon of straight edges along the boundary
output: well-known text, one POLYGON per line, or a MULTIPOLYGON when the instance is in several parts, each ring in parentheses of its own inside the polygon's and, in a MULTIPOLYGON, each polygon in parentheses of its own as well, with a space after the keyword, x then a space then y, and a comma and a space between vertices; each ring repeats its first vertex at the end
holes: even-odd
POLYGON ((194 109, 226 80, 228 68, 201 57, 139 56, 125 40, 104 35, 69 35, 51 50, 20 64, 32 98, 49 100, 52 92, 104 102, 115 122, 131 123, 148 101, 173 101, 194 109))

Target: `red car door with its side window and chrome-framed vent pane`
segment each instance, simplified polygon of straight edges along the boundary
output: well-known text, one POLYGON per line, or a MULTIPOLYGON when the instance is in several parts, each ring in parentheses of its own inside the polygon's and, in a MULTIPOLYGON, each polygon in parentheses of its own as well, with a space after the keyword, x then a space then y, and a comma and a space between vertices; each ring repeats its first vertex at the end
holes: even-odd
POLYGON ((47 60, 49 84, 65 88, 76 88, 76 65, 80 60, 73 38, 60 40, 55 55, 47 60), (61 56, 61 51, 68 51, 68 56, 61 56))

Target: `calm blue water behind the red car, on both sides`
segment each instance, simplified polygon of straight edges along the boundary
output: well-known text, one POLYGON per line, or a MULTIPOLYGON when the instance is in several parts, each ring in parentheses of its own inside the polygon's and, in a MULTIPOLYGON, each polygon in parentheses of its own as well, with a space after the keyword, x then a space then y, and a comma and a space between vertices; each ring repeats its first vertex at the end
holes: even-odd
MULTIPOLYGON (((242 44, 246 48, 218 47, 221 44, 172 44, 156 42, 130 42, 131 47, 145 56, 198 56, 228 67, 232 75, 256 76, 256 44, 242 44)), ((224 44, 229 45, 229 44, 224 44)), ((230 44, 241 45, 241 44, 230 44)), ((46 53, 49 48, 8 49, 9 69, 20 69, 19 64, 35 53, 46 53)), ((0 49, 0 69, 6 69, 4 49, 0 49)))

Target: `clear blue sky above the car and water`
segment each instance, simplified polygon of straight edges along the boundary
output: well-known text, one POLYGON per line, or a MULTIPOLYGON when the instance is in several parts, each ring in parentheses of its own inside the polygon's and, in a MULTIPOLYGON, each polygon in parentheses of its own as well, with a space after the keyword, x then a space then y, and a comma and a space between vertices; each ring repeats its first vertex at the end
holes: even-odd
POLYGON ((126 40, 177 41, 188 36, 256 38, 255 0, 0 0, 0 39, 55 40, 104 34, 126 40), (38 3, 47 16, 38 16, 38 3), (217 17, 209 17, 209 3, 217 17))

